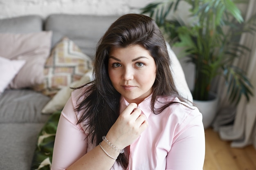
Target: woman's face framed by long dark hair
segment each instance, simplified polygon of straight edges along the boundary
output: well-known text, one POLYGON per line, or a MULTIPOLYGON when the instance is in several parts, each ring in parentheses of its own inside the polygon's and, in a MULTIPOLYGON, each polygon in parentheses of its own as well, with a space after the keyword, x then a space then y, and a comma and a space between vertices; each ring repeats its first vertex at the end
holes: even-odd
POLYGON ((149 51, 139 45, 112 49, 108 74, 114 88, 127 102, 139 104, 153 91, 155 60, 149 51))

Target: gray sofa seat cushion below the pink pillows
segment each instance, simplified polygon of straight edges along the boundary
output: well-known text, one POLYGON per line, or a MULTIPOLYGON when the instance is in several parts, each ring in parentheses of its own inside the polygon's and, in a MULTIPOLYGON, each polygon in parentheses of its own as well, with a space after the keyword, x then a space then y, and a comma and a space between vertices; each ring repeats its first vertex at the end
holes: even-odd
POLYGON ((50 98, 28 89, 5 90, 0 96, 0 123, 41 122, 49 115, 41 114, 50 98))

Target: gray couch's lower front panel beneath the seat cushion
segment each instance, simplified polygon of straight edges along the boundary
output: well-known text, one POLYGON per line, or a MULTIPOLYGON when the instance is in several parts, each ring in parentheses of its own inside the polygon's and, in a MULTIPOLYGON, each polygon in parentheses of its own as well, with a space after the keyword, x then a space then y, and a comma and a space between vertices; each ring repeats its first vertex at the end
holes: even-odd
POLYGON ((30 170, 43 123, 0 124, 1 170, 30 170))

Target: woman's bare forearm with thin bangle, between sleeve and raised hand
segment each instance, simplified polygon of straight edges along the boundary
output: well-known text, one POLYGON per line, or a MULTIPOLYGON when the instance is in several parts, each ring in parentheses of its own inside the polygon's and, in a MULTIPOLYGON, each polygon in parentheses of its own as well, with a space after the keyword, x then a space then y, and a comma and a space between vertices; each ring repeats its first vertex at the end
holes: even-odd
MULTIPOLYGON (((105 142, 101 143, 103 149, 113 158, 117 158, 119 152, 109 147, 105 142)), ((108 156, 98 145, 73 163, 67 170, 110 170, 115 159, 108 156)))

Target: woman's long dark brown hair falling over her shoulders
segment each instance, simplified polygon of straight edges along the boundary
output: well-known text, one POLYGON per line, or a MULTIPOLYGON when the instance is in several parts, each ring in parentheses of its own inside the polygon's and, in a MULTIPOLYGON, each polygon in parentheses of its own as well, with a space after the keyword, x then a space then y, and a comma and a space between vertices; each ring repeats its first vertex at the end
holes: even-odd
MULTIPOLYGON (((157 96, 174 95, 184 101, 175 88, 166 42, 155 21, 146 15, 123 15, 111 24, 99 40, 94 63, 94 81, 81 95, 83 101, 76 108, 76 111, 82 114, 78 124, 82 123, 87 128, 92 143, 95 142, 96 145, 102 141, 101 137, 108 133, 119 116, 121 95, 112 86, 108 75, 108 55, 113 48, 131 44, 143 46, 156 63, 157 73, 150 104, 153 113, 159 114, 173 104, 166 103, 162 108, 155 109, 157 96)), ((127 168, 128 155, 120 154, 117 162, 127 168)))

